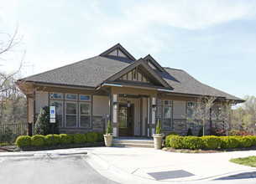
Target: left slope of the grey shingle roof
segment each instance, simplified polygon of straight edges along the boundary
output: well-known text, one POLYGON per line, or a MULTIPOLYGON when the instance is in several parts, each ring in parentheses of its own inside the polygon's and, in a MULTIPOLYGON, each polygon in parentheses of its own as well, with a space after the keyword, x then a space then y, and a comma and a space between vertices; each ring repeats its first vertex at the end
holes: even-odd
POLYGON ((131 63, 133 63, 133 60, 96 56, 75 64, 29 76, 26 81, 97 87, 104 79, 116 74, 131 63))

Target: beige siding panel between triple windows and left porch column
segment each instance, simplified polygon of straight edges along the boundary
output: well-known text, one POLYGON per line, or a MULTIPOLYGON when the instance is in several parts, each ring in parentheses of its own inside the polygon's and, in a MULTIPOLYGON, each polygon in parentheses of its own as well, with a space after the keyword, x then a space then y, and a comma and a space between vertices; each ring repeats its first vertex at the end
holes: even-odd
POLYGON ((109 113, 108 96, 93 95, 93 115, 106 116, 109 113))

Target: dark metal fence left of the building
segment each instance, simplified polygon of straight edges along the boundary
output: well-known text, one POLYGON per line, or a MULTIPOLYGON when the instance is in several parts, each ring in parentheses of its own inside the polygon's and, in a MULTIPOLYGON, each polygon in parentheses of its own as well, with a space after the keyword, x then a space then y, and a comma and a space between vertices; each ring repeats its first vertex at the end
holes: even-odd
POLYGON ((0 144, 14 143, 19 135, 27 135, 28 124, 0 125, 0 144))

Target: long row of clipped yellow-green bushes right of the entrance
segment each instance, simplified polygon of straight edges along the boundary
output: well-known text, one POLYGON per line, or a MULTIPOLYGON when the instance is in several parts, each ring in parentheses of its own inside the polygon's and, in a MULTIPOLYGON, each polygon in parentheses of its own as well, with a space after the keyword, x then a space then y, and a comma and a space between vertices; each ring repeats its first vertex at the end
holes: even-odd
POLYGON ((165 146, 175 149, 229 149, 238 147, 256 146, 256 136, 179 136, 167 135, 165 146))

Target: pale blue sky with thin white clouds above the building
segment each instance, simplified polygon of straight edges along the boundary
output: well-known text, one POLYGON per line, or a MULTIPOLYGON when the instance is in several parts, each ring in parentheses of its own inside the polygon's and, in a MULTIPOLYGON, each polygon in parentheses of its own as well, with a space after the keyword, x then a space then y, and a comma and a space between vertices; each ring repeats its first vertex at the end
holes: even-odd
POLYGON ((23 60, 20 77, 39 74, 121 43, 136 59, 150 54, 228 94, 256 96, 255 9, 253 0, 0 0, 0 41, 16 28, 22 38, 0 56, 0 72, 23 60))

